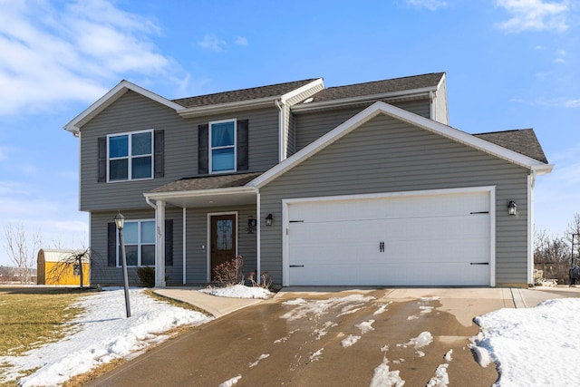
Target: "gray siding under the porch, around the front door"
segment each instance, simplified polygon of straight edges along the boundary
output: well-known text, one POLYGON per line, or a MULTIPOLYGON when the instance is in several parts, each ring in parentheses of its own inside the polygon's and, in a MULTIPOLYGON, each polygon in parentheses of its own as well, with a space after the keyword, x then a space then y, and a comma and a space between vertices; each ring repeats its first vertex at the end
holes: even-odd
POLYGON ((247 219, 256 218, 256 206, 187 208, 187 284, 208 283, 208 214, 237 211, 237 254, 244 257, 243 272, 256 270, 256 232, 247 233, 247 219), (205 247, 205 248, 204 248, 205 247))

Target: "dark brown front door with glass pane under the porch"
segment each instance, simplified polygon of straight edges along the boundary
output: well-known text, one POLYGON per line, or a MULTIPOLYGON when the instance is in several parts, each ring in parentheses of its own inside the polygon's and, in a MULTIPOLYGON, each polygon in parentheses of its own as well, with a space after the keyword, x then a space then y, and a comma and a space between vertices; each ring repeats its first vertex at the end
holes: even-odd
POLYGON ((236 214, 211 217, 211 280, 215 279, 214 267, 236 257, 236 214))

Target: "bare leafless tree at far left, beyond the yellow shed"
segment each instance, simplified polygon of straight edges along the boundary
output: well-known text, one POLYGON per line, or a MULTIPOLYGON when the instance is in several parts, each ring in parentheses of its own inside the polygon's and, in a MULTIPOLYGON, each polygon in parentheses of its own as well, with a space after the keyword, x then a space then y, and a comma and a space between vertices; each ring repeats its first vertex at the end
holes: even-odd
POLYGON ((39 231, 27 234, 24 225, 14 227, 8 223, 5 226, 5 250, 16 266, 20 283, 30 282, 32 269, 36 264, 36 252, 42 246, 42 237, 39 231))

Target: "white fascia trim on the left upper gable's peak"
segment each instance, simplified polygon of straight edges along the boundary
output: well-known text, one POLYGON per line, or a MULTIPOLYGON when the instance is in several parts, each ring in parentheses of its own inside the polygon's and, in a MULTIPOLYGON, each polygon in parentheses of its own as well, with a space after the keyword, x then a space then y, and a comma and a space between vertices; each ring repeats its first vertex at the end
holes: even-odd
POLYGON ((98 114, 107 106, 111 105, 112 102, 117 101, 121 96, 125 93, 130 91, 137 92, 142 96, 149 98, 155 102, 159 102, 162 105, 167 106, 170 109, 175 111, 181 111, 185 109, 183 106, 171 102, 166 98, 161 97, 159 94, 154 92, 150 92, 147 89, 143 89, 142 87, 136 85, 135 83, 131 83, 129 81, 121 81, 117 86, 113 87, 109 92, 99 98, 96 102, 92 103, 87 109, 82 111, 81 114, 77 115, 73 118, 72 121, 64 125, 65 131, 70 131, 73 134, 77 135, 81 131, 82 125, 86 122, 91 121, 92 117, 98 114))

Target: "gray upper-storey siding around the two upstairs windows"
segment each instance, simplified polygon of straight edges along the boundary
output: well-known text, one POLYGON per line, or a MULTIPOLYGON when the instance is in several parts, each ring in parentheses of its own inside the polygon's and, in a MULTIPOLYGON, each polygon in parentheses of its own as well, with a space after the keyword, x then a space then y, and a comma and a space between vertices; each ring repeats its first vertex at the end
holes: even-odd
POLYGON ((266 170, 278 162, 278 111, 275 106, 184 120, 175 111, 158 102, 136 92, 127 92, 82 127, 81 210, 146 208, 142 195, 144 192, 198 174, 198 125, 226 119, 249 121, 249 171, 266 170), (107 134, 143 130, 165 131, 165 176, 147 180, 97 182, 98 139, 107 134))

